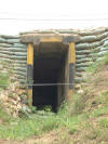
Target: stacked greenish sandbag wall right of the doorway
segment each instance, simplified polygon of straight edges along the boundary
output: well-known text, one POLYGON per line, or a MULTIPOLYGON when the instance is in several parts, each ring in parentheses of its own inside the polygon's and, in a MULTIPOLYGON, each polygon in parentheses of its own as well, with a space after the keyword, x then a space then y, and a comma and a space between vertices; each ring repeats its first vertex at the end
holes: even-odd
POLYGON ((80 36, 80 41, 76 43, 76 82, 83 82, 86 68, 108 51, 108 27, 92 30, 59 30, 59 32, 80 36))

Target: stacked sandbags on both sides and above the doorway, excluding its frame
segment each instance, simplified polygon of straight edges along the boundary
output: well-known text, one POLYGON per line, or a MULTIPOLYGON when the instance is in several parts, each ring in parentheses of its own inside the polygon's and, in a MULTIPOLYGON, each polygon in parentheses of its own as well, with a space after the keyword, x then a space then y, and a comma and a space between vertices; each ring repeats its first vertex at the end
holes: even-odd
MULTIPOLYGON (((76 43, 76 82, 82 82, 83 74, 91 63, 100 60, 108 51, 108 27, 87 30, 53 30, 38 34, 71 34, 79 35, 76 43)), ((35 34, 28 31, 23 34, 35 34)), ((21 34, 21 35, 23 35, 21 34)), ((25 83, 27 80, 27 44, 21 43, 19 36, 0 36, 0 62, 8 62, 14 70, 15 79, 25 83)))

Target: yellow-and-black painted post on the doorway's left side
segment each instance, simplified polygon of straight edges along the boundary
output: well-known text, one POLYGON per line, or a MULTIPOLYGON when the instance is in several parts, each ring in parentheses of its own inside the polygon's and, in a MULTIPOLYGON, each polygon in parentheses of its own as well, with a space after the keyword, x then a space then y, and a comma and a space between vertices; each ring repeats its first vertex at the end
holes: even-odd
POLYGON ((28 105, 32 105, 32 70, 33 70, 33 47, 31 43, 28 43, 27 47, 27 95, 28 95, 28 105))

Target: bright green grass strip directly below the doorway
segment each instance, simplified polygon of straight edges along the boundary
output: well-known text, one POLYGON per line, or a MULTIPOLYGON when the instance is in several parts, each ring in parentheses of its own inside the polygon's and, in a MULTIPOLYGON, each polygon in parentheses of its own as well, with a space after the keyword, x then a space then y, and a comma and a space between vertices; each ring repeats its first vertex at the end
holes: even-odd
MULTIPOLYGON (((0 110, 0 117, 8 117, 0 110)), ((5 125, 0 123, 0 138, 1 139, 17 139, 23 140, 32 135, 40 135, 45 132, 66 128, 69 133, 78 131, 78 126, 83 119, 82 116, 69 116, 67 109, 60 109, 56 115, 40 116, 37 114, 30 115, 29 118, 4 118, 9 119, 5 125)))

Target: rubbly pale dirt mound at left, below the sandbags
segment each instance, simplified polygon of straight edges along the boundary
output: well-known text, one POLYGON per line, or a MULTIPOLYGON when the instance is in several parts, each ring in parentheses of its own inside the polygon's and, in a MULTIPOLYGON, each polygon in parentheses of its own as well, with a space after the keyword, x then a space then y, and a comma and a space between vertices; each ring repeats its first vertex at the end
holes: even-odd
POLYGON ((9 64, 0 63, 0 108, 9 115, 17 117, 18 113, 26 107, 26 104, 23 103, 27 102, 26 91, 15 79, 13 69, 8 68, 9 64))

